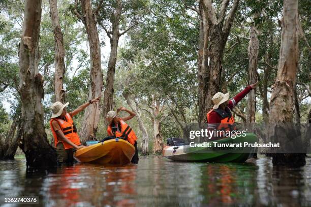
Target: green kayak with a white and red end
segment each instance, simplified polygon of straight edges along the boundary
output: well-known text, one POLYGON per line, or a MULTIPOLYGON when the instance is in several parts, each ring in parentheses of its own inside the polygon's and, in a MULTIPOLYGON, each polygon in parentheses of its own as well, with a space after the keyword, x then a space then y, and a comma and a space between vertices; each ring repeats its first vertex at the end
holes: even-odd
POLYGON ((252 144, 256 142, 257 137, 254 133, 246 133, 246 136, 238 136, 235 139, 228 137, 202 143, 199 147, 194 143, 183 146, 165 146, 163 156, 174 161, 244 162, 255 152, 252 144))

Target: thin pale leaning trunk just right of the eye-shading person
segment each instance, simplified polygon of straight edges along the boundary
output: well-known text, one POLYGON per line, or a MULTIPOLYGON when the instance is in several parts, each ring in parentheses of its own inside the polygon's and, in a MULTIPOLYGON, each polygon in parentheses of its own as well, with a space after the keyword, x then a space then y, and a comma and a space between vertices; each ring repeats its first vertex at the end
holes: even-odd
POLYGON ((141 118, 141 111, 138 107, 138 103, 137 101, 135 101, 135 107, 133 106, 133 103, 130 99, 130 95, 129 94, 123 94, 123 96, 125 97, 125 99, 127 100, 127 103, 128 105, 130 106, 130 108, 132 109, 132 111, 135 112, 136 114, 136 118, 137 118, 137 121, 138 121, 138 125, 139 125, 139 129, 141 130, 142 132, 142 152, 141 154, 142 155, 147 155, 149 154, 149 136, 148 136, 148 132, 147 132, 147 129, 144 125, 144 122, 141 118))

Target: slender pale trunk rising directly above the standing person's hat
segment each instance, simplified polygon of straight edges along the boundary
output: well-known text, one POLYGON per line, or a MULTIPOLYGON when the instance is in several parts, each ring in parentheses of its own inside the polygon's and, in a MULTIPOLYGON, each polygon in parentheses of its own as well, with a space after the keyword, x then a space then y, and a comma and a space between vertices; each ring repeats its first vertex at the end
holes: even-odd
POLYGON ((57 0, 49 0, 50 16, 52 19, 52 27, 54 30, 55 43, 55 74, 54 74, 54 93, 55 101, 65 103, 65 90, 63 88, 63 79, 65 75, 65 49, 63 33, 60 29, 57 0))

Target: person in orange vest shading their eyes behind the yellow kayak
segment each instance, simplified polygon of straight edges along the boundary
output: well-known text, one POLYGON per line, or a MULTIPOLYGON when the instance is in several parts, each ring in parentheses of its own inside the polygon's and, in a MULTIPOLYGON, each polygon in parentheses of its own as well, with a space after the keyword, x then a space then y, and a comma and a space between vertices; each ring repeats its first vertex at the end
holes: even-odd
POLYGON ((130 142, 135 147, 135 155, 132 158, 132 163, 138 163, 138 149, 137 149, 137 136, 134 132, 134 130, 125 122, 133 117, 135 117, 136 114, 134 112, 131 112, 130 110, 120 107, 117 109, 116 112, 109 111, 106 116, 106 121, 109 123, 107 128, 107 133, 109 136, 107 136, 105 139, 102 140, 102 142, 105 142, 107 140, 115 139, 116 137, 121 137, 121 139, 125 139, 128 142, 130 142), (130 115, 127 117, 118 117, 117 113, 119 111, 126 111, 130 115))

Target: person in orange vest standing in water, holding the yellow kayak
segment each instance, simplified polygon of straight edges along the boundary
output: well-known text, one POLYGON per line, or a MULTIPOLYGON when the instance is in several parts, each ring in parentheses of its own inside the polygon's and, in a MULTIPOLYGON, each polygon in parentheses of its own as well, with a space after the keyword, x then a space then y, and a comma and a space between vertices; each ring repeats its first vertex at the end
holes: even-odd
POLYGON ((54 146, 56 148, 58 163, 73 162, 74 149, 77 150, 84 147, 80 143, 80 137, 72 118, 83 111, 87 106, 94 102, 98 102, 99 100, 100 96, 89 100, 79 106, 76 110, 69 113, 66 111, 69 102, 64 105, 57 101, 51 106, 53 114, 50 120, 50 127, 54 137, 54 146))

